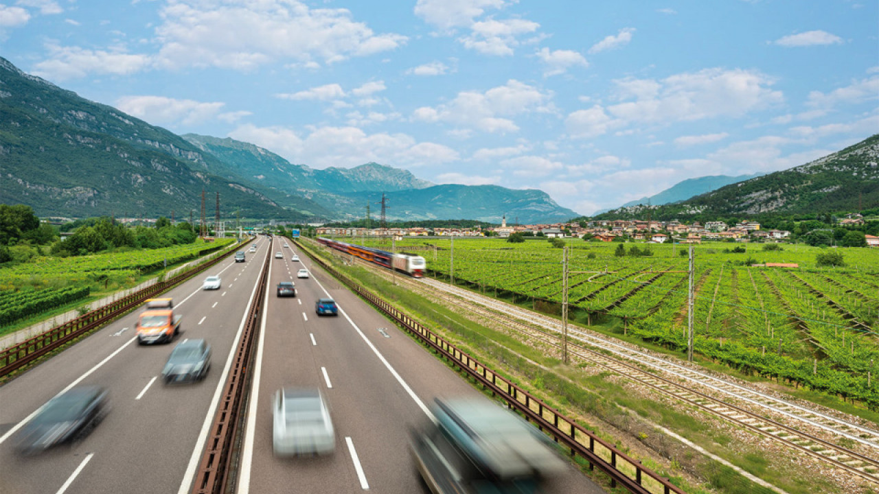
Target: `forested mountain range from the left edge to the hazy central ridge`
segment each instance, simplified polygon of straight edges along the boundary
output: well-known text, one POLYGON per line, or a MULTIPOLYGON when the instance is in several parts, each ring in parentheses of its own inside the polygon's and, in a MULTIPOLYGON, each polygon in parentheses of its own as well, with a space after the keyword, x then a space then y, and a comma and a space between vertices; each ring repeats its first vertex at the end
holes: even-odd
POLYGON ((232 139, 179 136, 80 98, 0 58, 0 203, 42 216, 213 217, 287 222, 350 220, 386 193, 392 220, 556 222, 578 214, 539 190, 434 185, 365 163, 316 170, 232 139))

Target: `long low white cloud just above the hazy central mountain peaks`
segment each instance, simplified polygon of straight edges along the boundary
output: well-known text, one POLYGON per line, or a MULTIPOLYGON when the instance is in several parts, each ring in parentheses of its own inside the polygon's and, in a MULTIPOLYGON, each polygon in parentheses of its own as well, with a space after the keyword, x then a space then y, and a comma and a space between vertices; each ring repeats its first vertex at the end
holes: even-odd
POLYGON ((237 127, 229 137, 314 168, 352 167, 374 161, 392 166, 440 165, 459 159, 458 152, 434 142, 416 142, 407 134, 367 134, 357 127, 316 127, 301 138, 285 127, 237 127))

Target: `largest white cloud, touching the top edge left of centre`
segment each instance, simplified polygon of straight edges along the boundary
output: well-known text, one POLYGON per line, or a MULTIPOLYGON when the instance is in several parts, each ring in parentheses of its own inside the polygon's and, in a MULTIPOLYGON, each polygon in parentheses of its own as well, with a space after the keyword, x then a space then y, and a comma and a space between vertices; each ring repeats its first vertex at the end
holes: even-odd
POLYGON ((333 63, 392 50, 399 34, 375 34, 345 9, 298 0, 176 0, 159 12, 158 59, 169 68, 250 70, 276 60, 333 63))

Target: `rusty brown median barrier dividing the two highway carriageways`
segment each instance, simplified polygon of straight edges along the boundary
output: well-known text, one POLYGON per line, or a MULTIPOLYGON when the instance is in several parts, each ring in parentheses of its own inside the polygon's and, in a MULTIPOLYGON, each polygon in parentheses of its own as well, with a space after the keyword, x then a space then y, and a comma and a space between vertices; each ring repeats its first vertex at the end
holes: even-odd
POLYGON ((236 458, 236 455, 233 454, 236 450, 236 435, 243 418, 243 407, 247 403, 246 395, 250 394, 248 367, 251 364, 252 350, 259 329, 259 318, 262 315, 263 303, 265 302, 265 282, 270 265, 268 258, 271 256, 272 249, 266 249, 265 262, 259 273, 257 290, 253 295, 251 309, 244 321, 235 360, 232 362, 229 377, 223 387, 220 404, 214 416, 214 424, 211 425, 210 434, 207 436, 207 446, 201 454, 199 470, 193 483, 193 494, 222 493, 229 486, 228 481, 232 471, 230 465, 236 458))

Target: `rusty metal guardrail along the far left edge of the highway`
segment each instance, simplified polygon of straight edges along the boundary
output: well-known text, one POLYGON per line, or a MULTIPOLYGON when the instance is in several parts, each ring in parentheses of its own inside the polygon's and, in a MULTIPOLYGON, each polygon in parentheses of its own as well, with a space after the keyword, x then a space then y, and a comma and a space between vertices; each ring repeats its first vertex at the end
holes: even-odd
POLYGON ((0 377, 11 374, 28 363, 33 362, 33 360, 37 360, 43 355, 62 347, 69 341, 100 327, 104 323, 112 321, 114 318, 127 313, 131 309, 139 307, 143 301, 154 297, 156 294, 161 294, 165 290, 175 287, 179 283, 192 278, 199 272, 219 263, 223 258, 228 257, 234 251, 236 251, 235 248, 229 249, 228 252, 221 254, 206 263, 196 265, 193 269, 182 272, 171 278, 171 280, 159 281, 154 285, 150 285, 149 287, 134 292, 134 294, 128 294, 117 301, 108 303, 107 305, 92 310, 72 321, 55 326, 40 335, 0 351, 0 377))

